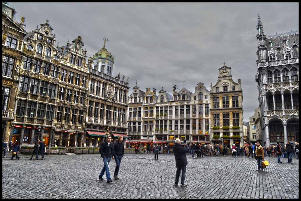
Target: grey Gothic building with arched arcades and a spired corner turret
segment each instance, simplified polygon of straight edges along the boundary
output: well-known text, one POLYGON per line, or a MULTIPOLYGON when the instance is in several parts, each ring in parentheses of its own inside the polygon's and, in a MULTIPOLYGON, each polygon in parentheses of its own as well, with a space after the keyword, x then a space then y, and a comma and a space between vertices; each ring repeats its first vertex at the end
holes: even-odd
POLYGON ((257 74, 264 145, 299 142, 299 31, 265 36, 258 16, 257 74))

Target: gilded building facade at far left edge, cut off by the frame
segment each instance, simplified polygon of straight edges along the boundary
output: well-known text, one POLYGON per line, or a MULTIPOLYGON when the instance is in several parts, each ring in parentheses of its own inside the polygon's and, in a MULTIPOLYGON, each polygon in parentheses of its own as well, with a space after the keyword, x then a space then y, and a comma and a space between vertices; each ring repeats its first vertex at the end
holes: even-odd
MULTIPOLYGON (((11 141, 15 124, 15 96, 24 47, 25 18, 15 19, 16 11, 2 3, 2 140, 11 141)), ((14 139, 13 139, 14 140, 14 139)), ((16 140, 20 140, 20 137, 16 140)))

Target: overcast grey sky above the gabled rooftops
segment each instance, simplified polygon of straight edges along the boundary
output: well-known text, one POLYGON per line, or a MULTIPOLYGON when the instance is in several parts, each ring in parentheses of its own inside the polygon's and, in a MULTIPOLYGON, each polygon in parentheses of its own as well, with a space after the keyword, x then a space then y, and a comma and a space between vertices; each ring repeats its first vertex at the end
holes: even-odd
POLYGON ((244 121, 258 107, 256 26, 260 14, 265 35, 299 30, 299 3, 9 3, 26 31, 49 20, 59 45, 82 36, 87 56, 108 38, 114 55, 113 76, 129 77, 130 93, 172 85, 194 93, 199 82, 216 84, 218 69, 231 67, 241 79, 244 121))

